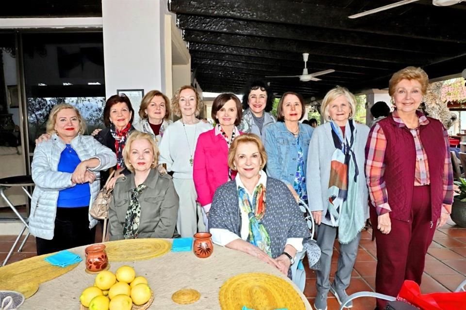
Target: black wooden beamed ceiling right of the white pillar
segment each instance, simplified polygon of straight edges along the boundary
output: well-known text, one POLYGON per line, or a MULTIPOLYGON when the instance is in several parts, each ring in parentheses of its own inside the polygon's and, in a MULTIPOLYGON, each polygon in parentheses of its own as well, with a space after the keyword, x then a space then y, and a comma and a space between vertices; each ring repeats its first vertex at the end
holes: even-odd
POLYGON ((353 92, 386 88, 408 65, 430 78, 466 68, 466 3, 420 0, 357 19, 348 16, 394 0, 170 0, 188 43, 192 71, 205 92, 241 93, 251 78, 269 81, 277 96, 295 91, 321 97, 335 85, 353 92), (334 69, 321 81, 309 73, 334 69))

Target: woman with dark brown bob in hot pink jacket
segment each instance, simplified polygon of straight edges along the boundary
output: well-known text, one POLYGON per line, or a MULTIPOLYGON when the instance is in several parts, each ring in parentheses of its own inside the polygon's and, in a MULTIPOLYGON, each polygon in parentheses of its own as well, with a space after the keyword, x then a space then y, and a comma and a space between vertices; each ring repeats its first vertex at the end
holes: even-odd
POLYGON ((193 178, 207 230, 207 215, 217 187, 236 175, 228 167, 228 150, 234 138, 241 134, 236 126, 241 123, 242 115, 238 97, 233 93, 219 94, 212 104, 216 126, 202 133, 196 144, 193 178))

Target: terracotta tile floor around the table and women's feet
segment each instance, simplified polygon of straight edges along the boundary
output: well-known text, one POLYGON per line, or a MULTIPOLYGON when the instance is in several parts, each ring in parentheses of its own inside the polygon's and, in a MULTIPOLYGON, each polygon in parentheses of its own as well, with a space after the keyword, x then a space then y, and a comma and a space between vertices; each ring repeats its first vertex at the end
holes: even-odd
MULTIPOLYGON (((1 224, 0 224, 1 225, 1 224)), ((6 257, 8 250, 13 245, 15 236, 0 236, 0 262, 6 257)), ((35 239, 30 237, 21 253, 14 252, 9 263, 17 262, 24 258, 35 256, 35 239)), ((331 280, 336 270, 338 259, 338 243, 335 243, 335 251, 332 257, 331 280)), ((376 245, 371 241, 371 230, 362 233, 358 250, 358 257, 352 272, 352 279, 348 293, 360 291, 374 291, 376 245)), ((316 274, 307 266, 306 288, 304 294, 311 305, 316 296, 316 274)), ((421 291, 423 293, 448 292, 454 290, 461 281, 466 278, 466 229, 459 228, 449 220, 446 227, 435 232, 434 241, 429 247, 426 257, 426 268, 422 278, 421 291)), ((359 298, 355 300, 354 310, 373 310, 375 299, 359 298)), ((328 310, 337 310, 339 305, 332 294, 329 294, 328 310)))

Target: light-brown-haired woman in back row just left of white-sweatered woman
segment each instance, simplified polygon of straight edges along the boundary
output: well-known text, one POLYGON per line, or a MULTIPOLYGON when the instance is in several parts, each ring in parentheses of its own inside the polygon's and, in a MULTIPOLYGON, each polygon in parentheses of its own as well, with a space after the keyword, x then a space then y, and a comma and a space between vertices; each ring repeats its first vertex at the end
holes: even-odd
POLYGON ((163 93, 153 90, 146 93, 139 107, 139 122, 134 128, 153 136, 158 145, 168 125, 173 124, 170 118, 170 101, 163 93))

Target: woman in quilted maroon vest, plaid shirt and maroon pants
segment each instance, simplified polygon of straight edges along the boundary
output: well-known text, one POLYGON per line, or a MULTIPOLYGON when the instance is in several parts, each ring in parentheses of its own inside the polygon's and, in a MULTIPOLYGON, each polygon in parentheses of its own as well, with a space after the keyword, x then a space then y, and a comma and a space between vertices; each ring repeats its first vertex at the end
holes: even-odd
MULTIPOLYGON (((446 129, 417 111, 429 78, 416 67, 395 73, 395 110, 375 124, 366 144, 370 218, 377 243, 376 292, 396 296, 405 279, 421 283, 425 256, 453 200, 446 129)), ((377 300, 378 309, 385 309, 377 300)))

